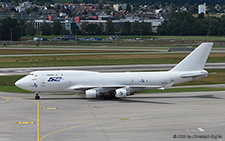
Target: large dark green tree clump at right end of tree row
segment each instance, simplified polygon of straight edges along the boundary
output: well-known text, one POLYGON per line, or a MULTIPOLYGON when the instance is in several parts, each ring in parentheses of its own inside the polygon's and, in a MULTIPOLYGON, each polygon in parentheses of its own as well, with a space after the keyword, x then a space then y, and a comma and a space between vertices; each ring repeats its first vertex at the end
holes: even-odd
POLYGON ((204 17, 199 14, 194 18, 188 12, 171 13, 168 20, 165 20, 159 26, 157 33, 159 35, 225 35, 225 16, 221 18, 204 17))

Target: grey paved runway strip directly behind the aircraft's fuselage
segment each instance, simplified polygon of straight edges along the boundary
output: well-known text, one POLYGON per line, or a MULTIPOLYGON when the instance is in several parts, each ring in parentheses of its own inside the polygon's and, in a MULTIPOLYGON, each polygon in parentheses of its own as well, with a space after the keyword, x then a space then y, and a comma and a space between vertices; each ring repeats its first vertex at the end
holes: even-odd
MULTIPOLYGON (((39 70, 88 70, 98 72, 126 72, 126 71, 165 71, 176 64, 145 64, 145 65, 103 65, 103 66, 67 66, 67 67, 28 67, 28 68, 0 68, 1 75, 26 75, 39 70)), ((224 69, 225 63, 207 63, 205 69, 224 69)))

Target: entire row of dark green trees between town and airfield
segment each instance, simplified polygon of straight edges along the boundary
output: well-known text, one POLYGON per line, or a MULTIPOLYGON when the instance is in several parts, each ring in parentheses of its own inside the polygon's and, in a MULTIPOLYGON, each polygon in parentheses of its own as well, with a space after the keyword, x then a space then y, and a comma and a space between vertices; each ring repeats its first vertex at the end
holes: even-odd
MULTIPOLYGON (((103 23, 92 24, 82 23, 81 29, 72 24, 73 35, 153 35, 151 26, 144 22, 124 22, 114 25, 112 20, 103 23), (117 27, 116 27, 117 26, 117 27), (119 26, 119 27, 118 27, 119 26)), ((65 30, 60 21, 54 21, 52 25, 43 23, 39 30, 35 29, 30 22, 24 19, 7 17, 0 20, 0 40, 20 40, 21 36, 35 34, 42 35, 69 35, 70 31, 65 30)), ((204 17, 200 14, 197 18, 188 12, 174 12, 158 27, 158 35, 225 35, 225 16, 204 17)))

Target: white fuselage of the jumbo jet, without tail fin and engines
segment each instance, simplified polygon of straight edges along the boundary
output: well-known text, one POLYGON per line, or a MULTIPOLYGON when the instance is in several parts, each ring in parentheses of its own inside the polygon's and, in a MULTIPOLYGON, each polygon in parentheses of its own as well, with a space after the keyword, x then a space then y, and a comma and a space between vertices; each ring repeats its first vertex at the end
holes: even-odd
MULTIPOLYGON (((16 85, 22 89, 34 92, 84 92, 74 89, 79 86, 160 86, 170 87, 174 84, 192 81, 196 78, 182 78, 184 74, 193 72, 121 72, 99 73, 91 71, 34 71, 17 81, 16 85)), ((201 77, 202 78, 202 77, 201 77)), ((140 89, 138 89, 140 90, 140 89)))

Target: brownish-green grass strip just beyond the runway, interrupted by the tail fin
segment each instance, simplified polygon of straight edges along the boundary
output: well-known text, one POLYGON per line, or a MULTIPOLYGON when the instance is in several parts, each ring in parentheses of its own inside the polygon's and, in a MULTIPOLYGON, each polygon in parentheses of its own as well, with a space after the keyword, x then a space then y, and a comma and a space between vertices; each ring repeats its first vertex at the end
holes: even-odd
MULTIPOLYGON (((187 54, 107 54, 74 56, 1 57, 0 67, 46 67, 87 65, 171 64, 180 62, 187 54)), ((212 53, 208 63, 224 62, 225 54, 212 53)))

